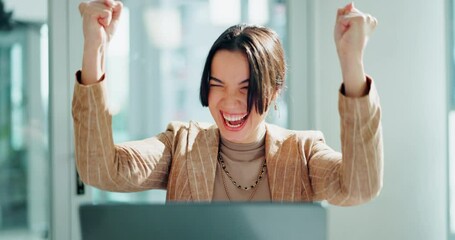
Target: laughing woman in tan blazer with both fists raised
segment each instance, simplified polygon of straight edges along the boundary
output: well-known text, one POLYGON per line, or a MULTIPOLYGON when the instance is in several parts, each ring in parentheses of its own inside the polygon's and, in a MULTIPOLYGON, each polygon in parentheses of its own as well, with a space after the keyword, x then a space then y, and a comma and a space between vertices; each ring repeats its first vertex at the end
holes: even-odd
POLYGON ((382 187, 381 111, 363 51, 376 19, 348 4, 338 10, 335 42, 343 74, 339 93, 342 152, 322 133, 267 124, 284 85, 285 60, 270 29, 236 25, 209 51, 200 99, 215 125, 172 122, 155 137, 114 144, 105 102, 104 50, 121 2, 80 4, 84 55, 73 119, 82 180, 119 192, 167 189, 170 201, 318 201, 354 205, 382 187))

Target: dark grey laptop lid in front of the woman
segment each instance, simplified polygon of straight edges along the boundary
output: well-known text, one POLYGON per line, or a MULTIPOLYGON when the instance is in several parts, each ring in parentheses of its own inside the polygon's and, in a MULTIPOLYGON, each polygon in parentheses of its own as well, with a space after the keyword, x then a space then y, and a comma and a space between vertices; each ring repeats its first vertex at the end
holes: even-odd
POLYGON ((319 203, 81 205, 83 240, 327 239, 319 203))

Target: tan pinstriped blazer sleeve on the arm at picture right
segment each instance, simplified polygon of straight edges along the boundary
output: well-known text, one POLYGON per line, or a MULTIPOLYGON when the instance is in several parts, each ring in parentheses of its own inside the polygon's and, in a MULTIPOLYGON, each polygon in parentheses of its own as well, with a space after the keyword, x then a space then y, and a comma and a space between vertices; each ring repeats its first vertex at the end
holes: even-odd
POLYGON ((376 197, 383 183, 381 107, 373 81, 367 78, 366 96, 349 98, 339 93, 341 151, 323 138, 311 147, 308 165, 313 200, 340 206, 357 205, 376 197))

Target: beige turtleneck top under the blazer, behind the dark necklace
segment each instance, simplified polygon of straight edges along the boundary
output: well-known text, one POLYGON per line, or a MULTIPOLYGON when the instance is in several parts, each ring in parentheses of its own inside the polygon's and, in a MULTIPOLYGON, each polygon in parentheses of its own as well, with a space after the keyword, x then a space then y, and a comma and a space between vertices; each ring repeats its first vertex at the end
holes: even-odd
MULTIPOLYGON (((223 137, 220 139, 220 154, 232 179, 241 186, 253 185, 262 169, 265 158, 265 133, 261 140, 252 143, 234 143, 223 137)), ((222 170, 219 161, 213 187, 214 201, 247 201, 253 194, 252 201, 270 201, 270 189, 267 181, 267 171, 255 188, 249 190, 238 189, 226 173, 222 170), (223 180, 224 184, 223 185, 223 180)))

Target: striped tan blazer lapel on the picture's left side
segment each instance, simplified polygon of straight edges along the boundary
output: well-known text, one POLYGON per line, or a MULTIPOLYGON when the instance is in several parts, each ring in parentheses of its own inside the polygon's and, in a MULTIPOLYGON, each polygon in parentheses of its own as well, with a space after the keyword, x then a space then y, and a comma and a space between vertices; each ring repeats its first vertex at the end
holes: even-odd
POLYGON ((218 157, 219 131, 190 122, 186 150, 188 179, 195 201, 212 201, 218 157))

